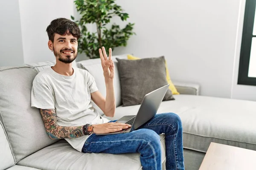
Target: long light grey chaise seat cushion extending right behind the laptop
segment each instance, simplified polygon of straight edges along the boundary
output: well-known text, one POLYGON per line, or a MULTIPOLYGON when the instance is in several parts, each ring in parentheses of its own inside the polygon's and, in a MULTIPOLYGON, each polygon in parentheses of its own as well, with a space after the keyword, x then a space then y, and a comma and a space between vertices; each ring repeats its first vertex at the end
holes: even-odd
MULTIPOLYGON (((183 125, 183 147, 206 153, 210 142, 256 150, 256 102, 180 94, 157 113, 173 112, 183 125)), ((116 108, 111 120, 136 115, 140 105, 116 108)))

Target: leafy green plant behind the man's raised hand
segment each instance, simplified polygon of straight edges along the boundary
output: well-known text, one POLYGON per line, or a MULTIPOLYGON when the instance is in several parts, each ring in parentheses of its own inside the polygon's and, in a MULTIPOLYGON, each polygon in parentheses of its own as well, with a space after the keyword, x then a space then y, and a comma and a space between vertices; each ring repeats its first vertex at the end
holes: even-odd
MULTIPOLYGON (((102 46, 112 48, 112 51, 115 47, 126 46, 128 39, 135 34, 132 31, 134 23, 128 23, 124 28, 115 23, 111 26, 108 24, 114 16, 120 17, 122 21, 129 17, 115 0, 75 0, 74 3, 81 15, 81 19, 75 22, 83 34, 79 39, 78 52, 84 52, 90 59, 99 58, 99 48, 102 46), (96 24, 96 31, 88 31, 86 24, 96 24)), ((71 18, 75 20, 73 16, 71 18)))

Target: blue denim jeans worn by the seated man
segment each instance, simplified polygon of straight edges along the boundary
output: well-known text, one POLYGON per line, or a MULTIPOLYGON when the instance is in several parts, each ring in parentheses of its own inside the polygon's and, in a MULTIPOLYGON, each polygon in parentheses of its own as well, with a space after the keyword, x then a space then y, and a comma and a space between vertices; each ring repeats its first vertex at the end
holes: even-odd
POLYGON ((156 114, 148 123, 130 133, 92 134, 84 143, 82 152, 140 153, 143 170, 161 170, 159 134, 162 133, 166 135, 166 170, 184 170, 182 125, 175 113, 156 114))

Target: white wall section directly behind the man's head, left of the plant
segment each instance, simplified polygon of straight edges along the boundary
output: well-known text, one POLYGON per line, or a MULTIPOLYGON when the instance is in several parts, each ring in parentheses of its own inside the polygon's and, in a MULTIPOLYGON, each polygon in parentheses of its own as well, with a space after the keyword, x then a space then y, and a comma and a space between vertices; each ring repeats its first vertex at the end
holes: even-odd
POLYGON ((73 0, 19 0, 24 63, 55 60, 46 28, 58 18, 71 19, 73 0))

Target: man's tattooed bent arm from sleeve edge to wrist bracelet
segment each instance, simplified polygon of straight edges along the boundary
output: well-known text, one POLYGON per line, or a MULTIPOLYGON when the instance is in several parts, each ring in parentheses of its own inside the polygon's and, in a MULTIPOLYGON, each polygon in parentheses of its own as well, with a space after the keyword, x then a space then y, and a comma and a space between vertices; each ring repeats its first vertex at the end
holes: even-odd
POLYGON ((40 109, 44 127, 51 139, 78 138, 94 133, 93 126, 59 126, 55 109, 40 109))

